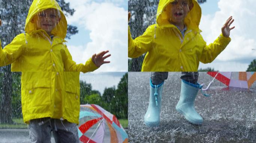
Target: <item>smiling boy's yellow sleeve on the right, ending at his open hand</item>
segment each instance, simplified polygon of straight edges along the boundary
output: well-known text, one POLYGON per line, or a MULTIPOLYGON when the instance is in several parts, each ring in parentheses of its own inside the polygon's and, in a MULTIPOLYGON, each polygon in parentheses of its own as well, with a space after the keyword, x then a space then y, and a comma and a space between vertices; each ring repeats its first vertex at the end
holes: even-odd
POLYGON ((76 64, 76 62, 72 60, 72 56, 69 53, 67 47, 65 49, 65 55, 66 55, 66 58, 64 61, 65 71, 79 71, 79 72, 82 71, 83 73, 86 73, 89 71, 94 71, 99 68, 92 62, 91 58, 89 58, 89 60, 87 60, 85 64, 76 64))

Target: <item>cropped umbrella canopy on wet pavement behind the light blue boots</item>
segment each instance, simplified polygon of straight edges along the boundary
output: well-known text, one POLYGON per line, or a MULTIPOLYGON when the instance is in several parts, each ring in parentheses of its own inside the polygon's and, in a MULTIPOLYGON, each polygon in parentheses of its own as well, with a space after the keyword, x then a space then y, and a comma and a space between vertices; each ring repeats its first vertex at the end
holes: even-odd
POLYGON ((212 77, 229 87, 249 89, 256 80, 256 72, 216 72, 208 71, 212 77))

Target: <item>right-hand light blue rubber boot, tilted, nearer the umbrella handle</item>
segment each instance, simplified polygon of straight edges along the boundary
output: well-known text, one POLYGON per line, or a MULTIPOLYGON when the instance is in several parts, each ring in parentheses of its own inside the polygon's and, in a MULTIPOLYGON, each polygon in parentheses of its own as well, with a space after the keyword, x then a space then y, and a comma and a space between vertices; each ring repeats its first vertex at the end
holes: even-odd
POLYGON ((185 116, 185 118, 195 125, 202 124, 202 117, 196 112, 194 102, 200 85, 194 85, 185 80, 182 80, 180 91, 180 100, 176 105, 176 110, 185 116))

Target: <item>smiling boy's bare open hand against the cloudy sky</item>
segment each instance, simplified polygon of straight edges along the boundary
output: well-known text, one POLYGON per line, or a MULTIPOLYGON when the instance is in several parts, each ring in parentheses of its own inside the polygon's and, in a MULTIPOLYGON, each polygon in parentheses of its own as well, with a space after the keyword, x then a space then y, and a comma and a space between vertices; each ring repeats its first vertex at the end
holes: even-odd
POLYGON ((110 54, 103 57, 108 52, 109 51, 102 51, 101 53, 98 53, 97 55, 96 54, 92 55, 92 62, 97 67, 100 67, 102 64, 110 63, 110 61, 104 61, 107 57, 110 57, 110 54))

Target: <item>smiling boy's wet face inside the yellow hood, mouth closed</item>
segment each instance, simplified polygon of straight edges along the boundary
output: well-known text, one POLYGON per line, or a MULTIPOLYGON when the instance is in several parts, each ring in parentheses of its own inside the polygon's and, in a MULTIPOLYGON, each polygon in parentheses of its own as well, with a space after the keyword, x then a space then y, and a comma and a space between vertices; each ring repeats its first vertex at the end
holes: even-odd
POLYGON ((37 29, 43 29, 50 35, 51 31, 60 22, 60 19, 56 9, 46 9, 37 13, 31 22, 36 23, 37 29))

